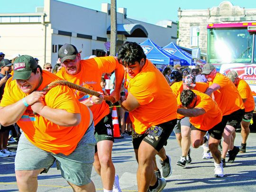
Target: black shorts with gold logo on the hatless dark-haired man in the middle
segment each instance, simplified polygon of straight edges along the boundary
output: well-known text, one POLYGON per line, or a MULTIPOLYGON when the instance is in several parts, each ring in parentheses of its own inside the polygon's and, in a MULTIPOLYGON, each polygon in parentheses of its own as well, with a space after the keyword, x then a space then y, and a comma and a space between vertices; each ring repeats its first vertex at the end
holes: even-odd
POLYGON ((172 133, 177 119, 167 121, 165 123, 149 127, 144 134, 137 134, 132 130, 133 148, 137 150, 142 141, 147 142, 155 150, 159 151, 166 144, 167 139, 172 133))

